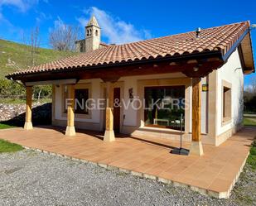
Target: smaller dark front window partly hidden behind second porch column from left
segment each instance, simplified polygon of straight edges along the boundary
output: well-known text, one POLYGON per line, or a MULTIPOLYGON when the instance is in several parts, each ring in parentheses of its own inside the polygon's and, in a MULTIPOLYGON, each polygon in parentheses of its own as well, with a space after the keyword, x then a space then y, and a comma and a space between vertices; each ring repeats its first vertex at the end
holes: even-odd
MULTIPOLYGON (((66 99, 68 98, 67 87, 64 87, 64 113, 66 110, 66 99)), ((89 89, 75 89, 75 113, 77 114, 89 114, 88 102, 89 99, 89 89)))

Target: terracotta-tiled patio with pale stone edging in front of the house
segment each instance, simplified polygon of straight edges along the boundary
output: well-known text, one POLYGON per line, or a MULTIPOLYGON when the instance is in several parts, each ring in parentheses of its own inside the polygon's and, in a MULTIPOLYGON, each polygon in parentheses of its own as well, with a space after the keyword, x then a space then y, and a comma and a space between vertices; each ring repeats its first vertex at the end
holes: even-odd
MULTIPOLYGON (((170 154, 172 148, 179 146, 178 141, 118 137, 107 143, 97 134, 84 131, 78 132, 77 137, 65 137, 61 128, 35 127, 32 131, 22 128, 2 130, 0 138, 227 198, 249 154, 256 128, 246 127, 218 147, 204 145, 205 155, 200 157, 170 154)), ((189 143, 185 147, 188 148, 189 143)))

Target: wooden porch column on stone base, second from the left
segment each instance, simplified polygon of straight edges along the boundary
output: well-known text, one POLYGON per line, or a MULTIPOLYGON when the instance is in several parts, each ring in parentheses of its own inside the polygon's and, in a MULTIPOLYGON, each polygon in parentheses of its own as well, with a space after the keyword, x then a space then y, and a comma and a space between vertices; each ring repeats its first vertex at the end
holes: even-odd
POLYGON ((68 84, 68 98, 65 99, 65 107, 67 108, 67 127, 65 129, 66 136, 75 136, 75 84, 68 84))

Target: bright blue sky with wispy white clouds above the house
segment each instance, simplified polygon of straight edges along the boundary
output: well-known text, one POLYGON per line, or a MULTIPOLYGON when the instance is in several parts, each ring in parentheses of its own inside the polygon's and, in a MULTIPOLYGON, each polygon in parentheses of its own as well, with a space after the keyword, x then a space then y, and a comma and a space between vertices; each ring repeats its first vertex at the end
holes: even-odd
MULTIPOLYGON (((92 13, 102 26, 103 41, 120 44, 194 31, 199 26, 247 20, 256 24, 256 1, 0 0, 0 38, 28 41, 31 28, 39 26, 41 47, 47 48, 51 29, 70 24, 80 26, 82 35, 92 13)), ((252 38, 255 51, 256 29, 252 38)), ((245 77, 245 85, 252 77, 256 74, 245 77)))

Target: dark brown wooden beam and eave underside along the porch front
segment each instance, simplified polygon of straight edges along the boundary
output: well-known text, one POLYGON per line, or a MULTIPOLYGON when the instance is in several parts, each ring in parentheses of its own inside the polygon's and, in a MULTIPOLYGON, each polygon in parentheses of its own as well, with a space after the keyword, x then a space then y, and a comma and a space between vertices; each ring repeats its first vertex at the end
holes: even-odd
MULTIPOLYGON (((51 72, 45 72, 41 74, 27 74, 21 77, 24 84, 35 84, 39 81, 40 84, 47 83, 46 81, 55 81, 56 79, 104 79, 104 81, 112 81, 109 79, 118 79, 122 76, 133 75, 146 75, 146 74, 167 74, 182 72, 188 77, 204 77, 212 70, 218 69, 224 63, 218 58, 210 58, 205 60, 191 60, 190 64, 187 64, 186 60, 179 61, 164 61, 157 64, 138 64, 138 65, 126 65, 108 68, 94 68, 89 69, 69 69, 69 70, 56 70, 51 72), (157 65, 157 67, 155 66, 157 65), (195 67, 199 69, 195 72, 195 67), (32 82, 32 83, 31 83, 32 82)), ((17 78, 19 79, 19 78, 17 78)), ((62 81, 62 80, 61 80, 62 81)), ((71 84, 71 83, 70 83, 71 84)))

